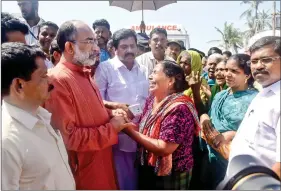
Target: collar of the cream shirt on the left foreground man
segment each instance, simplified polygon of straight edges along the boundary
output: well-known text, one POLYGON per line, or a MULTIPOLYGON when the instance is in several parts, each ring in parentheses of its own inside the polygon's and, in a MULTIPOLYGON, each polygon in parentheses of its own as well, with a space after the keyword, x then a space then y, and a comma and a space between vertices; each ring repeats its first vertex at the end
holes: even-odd
MULTIPOLYGON (((38 118, 34 117, 29 112, 14 105, 11 105, 4 100, 2 102, 2 109, 3 111, 6 111, 12 118, 21 122, 28 129, 33 129, 36 123, 39 121, 38 118)), ((50 121, 52 114, 42 108, 41 106, 38 107, 37 113, 40 117, 46 119, 47 121, 50 121)))

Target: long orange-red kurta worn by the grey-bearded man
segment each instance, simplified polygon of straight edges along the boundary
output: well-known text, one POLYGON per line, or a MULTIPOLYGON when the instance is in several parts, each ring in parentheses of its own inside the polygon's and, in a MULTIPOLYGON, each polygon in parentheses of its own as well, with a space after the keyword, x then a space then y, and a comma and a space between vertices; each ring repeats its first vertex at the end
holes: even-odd
POLYGON ((112 145, 118 133, 89 70, 59 63, 49 76, 55 88, 45 108, 63 135, 77 189, 117 189, 112 145))

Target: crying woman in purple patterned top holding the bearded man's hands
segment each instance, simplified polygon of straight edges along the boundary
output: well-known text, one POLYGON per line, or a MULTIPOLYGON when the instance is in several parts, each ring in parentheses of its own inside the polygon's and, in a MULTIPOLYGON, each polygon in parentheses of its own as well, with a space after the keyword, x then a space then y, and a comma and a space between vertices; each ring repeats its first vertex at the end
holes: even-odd
POLYGON ((140 145, 139 189, 188 189, 193 167, 192 142, 199 133, 184 72, 173 61, 157 64, 149 77, 148 97, 139 124, 124 130, 140 145))

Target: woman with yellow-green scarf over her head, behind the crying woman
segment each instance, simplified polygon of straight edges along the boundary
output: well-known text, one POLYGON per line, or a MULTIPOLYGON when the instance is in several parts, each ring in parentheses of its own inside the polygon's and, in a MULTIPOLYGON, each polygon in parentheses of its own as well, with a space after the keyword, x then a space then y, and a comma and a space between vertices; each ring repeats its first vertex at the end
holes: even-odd
MULTIPOLYGON (((201 62, 200 54, 198 52, 195 52, 192 50, 182 51, 177 59, 177 63, 183 68, 184 74, 186 77, 189 77, 192 72, 195 74, 198 74, 198 75, 201 75, 201 73, 202 73, 202 70, 203 70, 202 62, 201 62)), ((202 79, 202 83, 201 83, 199 91, 200 91, 200 98, 201 98, 203 105, 207 106, 208 105, 208 93, 207 92, 210 92, 210 88, 205 79, 202 79)), ((188 89, 184 91, 184 94, 193 98, 192 88, 188 87, 188 89)))

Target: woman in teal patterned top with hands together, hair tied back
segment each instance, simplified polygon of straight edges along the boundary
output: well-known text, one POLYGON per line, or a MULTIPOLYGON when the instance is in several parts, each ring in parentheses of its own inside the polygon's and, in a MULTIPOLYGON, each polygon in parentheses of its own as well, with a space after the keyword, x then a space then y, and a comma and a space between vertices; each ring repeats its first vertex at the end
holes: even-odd
MULTIPOLYGON (((209 115, 201 116, 203 138, 209 150, 206 180, 214 189, 223 180, 229 145, 242 122, 253 98, 258 93, 253 89, 253 77, 247 62, 250 56, 236 54, 226 64, 225 77, 228 89, 219 92, 213 100, 209 115)), ((208 185, 208 183, 207 183, 208 185)))

